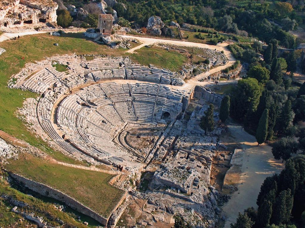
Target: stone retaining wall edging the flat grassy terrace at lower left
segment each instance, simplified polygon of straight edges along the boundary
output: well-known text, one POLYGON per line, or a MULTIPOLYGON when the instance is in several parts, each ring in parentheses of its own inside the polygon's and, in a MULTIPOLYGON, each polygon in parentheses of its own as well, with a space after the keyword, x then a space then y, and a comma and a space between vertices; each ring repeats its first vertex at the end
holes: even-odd
MULTIPOLYGON (((13 179, 17 180, 18 182, 23 183, 23 185, 25 187, 27 187, 35 192, 38 192, 39 194, 41 194, 43 196, 48 196, 48 197, 54 198, 56 200, 59 200, 61 202, 64 202, 66 205, 77 210, 78 212, 81 212, 84 215, 90 216, 91 218, 95 219, 96 221, 101 223, 103 226, 107 225, 109 218, 104 218, 103 216, 99 215, 97 212, 94 212, 90 208, 86 207, 85 205, 81 204, 80 202, 71 198, 70 196, 64 194, 63 192, 56 190, 52 187, 49 187, 45 184, 38 183, 33 180, 27 179, 23 176, 16 175, 14 173, 9 172, 9 175, 13 179)), ((126 193, 125 193, 125 197, 126 197, 126 193)), ((125 197, 123 197, 120 202, 122 202, 125 197)), ((120 204, 118 204, 118 205, 120 205, 120 204)))

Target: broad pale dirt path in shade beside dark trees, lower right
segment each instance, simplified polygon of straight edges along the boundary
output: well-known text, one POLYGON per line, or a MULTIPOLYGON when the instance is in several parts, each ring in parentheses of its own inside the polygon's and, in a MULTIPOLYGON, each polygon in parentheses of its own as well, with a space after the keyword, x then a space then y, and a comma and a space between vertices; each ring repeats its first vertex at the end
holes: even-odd
POLYGON ((224 228, 229 228, 230 223, 235 223, 239 212, 248 207, 257 208, 257 195, 265 178, 280 173, 284 168, 284 163, 273 158, 271 146, 257 146, 255 137, 246 133, 242 126, 229 125, 228 130, 245 153, 237 184, 238 191, 232 194, 231 199, 223 207, 223 215, 227 218, 224 228))

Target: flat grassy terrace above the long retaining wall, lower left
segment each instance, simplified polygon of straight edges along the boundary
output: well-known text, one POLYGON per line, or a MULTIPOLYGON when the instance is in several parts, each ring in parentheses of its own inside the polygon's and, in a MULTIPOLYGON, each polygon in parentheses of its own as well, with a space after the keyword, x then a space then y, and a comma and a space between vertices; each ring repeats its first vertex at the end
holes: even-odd
POLYGON ((27 154, 20 157, 9 161, 5 167, 54 186, 101 215, 107 216, 123 194, 122 190, 108 184, 110 174, 52 164, 27 154))

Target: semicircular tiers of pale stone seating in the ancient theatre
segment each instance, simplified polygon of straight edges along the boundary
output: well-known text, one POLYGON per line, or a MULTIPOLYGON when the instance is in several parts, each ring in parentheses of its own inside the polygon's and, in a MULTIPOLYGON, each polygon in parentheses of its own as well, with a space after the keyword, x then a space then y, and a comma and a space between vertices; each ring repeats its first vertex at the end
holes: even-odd
POLYGON ((69 153, 81 153, 88 161, 132 166, 137 155, 118 145, 114 138, 127 123, 156 124, 165 112, 171 119, 181 113, 185 91, 163 85, 170 84, 172 76, 164 69, 132 65, 128 58, 87 61, 65 55, 28 64, 13 77, 17 81, 12 87, 41 94, 38 121, 48 136, 69 153), (67 71, 58 72, 56 64, 66 65, 67 71), (117 79, 122 80, 103 82, 117 79), (129 84, 124 79, 153 83, 129 84), (76 92, 67 95, 74 88, 76 92), (53 120, 52 110, 58 101, 53 120), (55 121, 60 132, 54 128, 55 121))

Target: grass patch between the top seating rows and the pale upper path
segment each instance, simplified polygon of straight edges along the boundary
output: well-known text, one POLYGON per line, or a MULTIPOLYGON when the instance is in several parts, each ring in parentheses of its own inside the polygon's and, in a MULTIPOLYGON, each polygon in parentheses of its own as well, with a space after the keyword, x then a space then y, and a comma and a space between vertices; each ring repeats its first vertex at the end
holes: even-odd
POLYGON ((187 61, 185 55, 178 52, 166 51, 164 48, 152 46, 151 48, 140 48, 137 53, 131 54, 130 58, 134 62, 142 65, 152 64, 156 67, 167 68, 178 71, 187 61))

